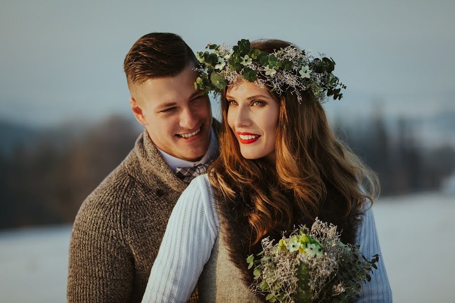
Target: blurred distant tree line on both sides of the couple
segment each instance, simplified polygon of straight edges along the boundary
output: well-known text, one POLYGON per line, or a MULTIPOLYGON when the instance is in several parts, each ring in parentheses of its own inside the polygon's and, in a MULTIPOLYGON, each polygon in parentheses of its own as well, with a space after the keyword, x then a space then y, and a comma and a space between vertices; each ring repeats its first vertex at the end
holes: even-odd
MULTIPOLYGON (((438 189, 455 170, 453 147, 422 148, 406 120, 388 131, 377 115, 362 127, 335 127, 378 172, 382 195, 438 189)), ((82 132, 36 132, 33 140, 0 153, 0 228, 72 223, 84 198, 124 159, 141 132, 134 121, 111 117, 82 132)))

